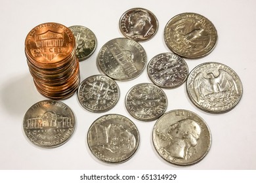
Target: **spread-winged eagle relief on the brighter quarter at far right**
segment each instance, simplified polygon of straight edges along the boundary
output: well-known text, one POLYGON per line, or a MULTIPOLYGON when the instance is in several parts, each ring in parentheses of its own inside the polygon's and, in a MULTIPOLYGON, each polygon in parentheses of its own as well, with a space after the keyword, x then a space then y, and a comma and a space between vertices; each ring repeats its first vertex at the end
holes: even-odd
POLYGON ((194 90, 197 93, 197 100, 209 93, 220 93, 230 91, 238 93, 238 88, 232 76, 223 69, 219 69, 219 75, 207 73, 207 77, 203 73, 198 73, 194 79, 194 90))

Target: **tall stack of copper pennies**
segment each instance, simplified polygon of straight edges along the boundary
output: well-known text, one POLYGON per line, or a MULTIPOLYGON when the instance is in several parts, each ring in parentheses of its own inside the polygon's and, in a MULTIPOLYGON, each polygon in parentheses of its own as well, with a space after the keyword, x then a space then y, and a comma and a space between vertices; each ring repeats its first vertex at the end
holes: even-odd
POLYGON ((72 31, 58 23, 34 27, 25 42, 30 73, 39 93, 50 99, 66 99, 80 82, 79 61, 72 31))

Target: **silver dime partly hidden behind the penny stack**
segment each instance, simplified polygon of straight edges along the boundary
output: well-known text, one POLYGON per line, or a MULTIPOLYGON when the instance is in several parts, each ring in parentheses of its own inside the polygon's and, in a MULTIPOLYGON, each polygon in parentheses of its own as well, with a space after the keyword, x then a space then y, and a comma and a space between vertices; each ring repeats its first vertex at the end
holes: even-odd
POLYGON ((93 31, 81 25, 68 27, 75 37, 75 54, 79 61, 89 58, 96 49, 97 40, 93 31))

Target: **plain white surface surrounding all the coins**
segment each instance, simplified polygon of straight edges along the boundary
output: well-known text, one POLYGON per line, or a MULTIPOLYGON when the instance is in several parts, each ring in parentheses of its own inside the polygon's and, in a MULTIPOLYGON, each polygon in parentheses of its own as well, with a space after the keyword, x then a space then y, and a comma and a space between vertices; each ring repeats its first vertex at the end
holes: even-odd
POLYGON ((0 5, 0 169, 2 170, 240 170, 256 169, 255 68, 256 68, 256 1, 7 1, 0 5), (199 163, 179 167, 158 156, 152 144, 154 122, 140 122, 125 108, 127 91, 140 82, 150 82, 146 69, 134 80, 117 82, 119 101, 112 110, 100 114, 88 112, 79 105, 77 95, 62 100, 75 113, 76 129, 70 141, 52 149, 33 145, 24 135, 24 114, 34 103, 46 99, 40 95, 28 71, 24 41, 29 31, 45 22, 67 27, 83 25, 91 29, 98 46, 91 58, 80 62, 81 80, 100 74, 96 57, 110 39, 123 37, 119 18, 129 8, 142 7, 152 11, 159 22, 156 35, 140 44, 148 61, 157 54, 170 52, 163 41, 167 22, 182 12, 202 14, 215 25, 218 41, 211 54, 202 59, 185 59, 189 71, 207 61, 231 67, 242 80, 244 93, 238 105, 224 114, 209 114, 196 108, 186 95, 185 84, 164 90, 168 97, 167 111, 183 108, 200 115, 209 125, 212 145, 199 163), (140 144, 135 155, 117 165, 103 163, 87 146, 87 131, 96 118, 104 114, 122 114, 137 125, 140 144))

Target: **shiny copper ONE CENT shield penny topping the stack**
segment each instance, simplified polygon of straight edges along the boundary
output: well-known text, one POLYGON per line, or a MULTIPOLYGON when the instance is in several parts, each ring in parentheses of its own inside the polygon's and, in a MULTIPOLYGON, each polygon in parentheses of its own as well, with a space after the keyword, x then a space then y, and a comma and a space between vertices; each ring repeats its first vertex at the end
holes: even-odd
POLYGON ((26 54, 38 64, 47 67, 58 65, 66 59, 75 47, 72 31, 62 24, 45 23, 34 27, 25 41, 26 54))

